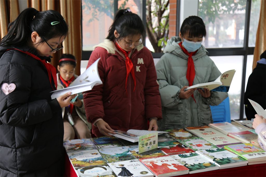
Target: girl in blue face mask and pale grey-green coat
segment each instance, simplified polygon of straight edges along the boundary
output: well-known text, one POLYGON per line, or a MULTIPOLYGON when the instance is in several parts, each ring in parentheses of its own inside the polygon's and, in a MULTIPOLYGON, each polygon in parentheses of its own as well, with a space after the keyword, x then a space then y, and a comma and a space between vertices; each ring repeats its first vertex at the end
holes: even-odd
POLYGON ((214 81, 221 75, 208 51, 201 45, 205 24, 198 16, 182 23, 179 37, 172 37, 156 64, 157 81, 163 107, 159 130, 204 126, 212 123, 210 105, 220 104, 227 92, 189 89, 195 84, 214 81))

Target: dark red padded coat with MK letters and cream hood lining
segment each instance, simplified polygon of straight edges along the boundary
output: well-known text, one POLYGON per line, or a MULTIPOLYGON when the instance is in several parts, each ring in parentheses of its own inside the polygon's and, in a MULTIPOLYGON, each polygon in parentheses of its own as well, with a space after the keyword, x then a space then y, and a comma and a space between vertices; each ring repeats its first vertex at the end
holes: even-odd
MULTIPOLYGON (((161 98, 151 52, 138 46, 130 54, 136 77, 136 89, 132 75, 128 76, 126 92, 126 63, 123 54, 114 43, 105 40, 94 46, 87 68, 98 58, 98 72, 102 85, 85 92, 84 105, 89 122, 102 118, 114 130, 147 129, 150 118, 162 118, 161 98)), ((103 136, 96 126, 92 132, 103 136)))

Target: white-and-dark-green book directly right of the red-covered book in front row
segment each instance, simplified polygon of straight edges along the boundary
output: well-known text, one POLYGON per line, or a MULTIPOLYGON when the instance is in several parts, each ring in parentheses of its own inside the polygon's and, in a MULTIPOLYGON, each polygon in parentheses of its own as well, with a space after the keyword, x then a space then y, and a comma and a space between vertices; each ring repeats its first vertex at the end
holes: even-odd
POLYGON ((190 174, 219 169, 219 166, 196 152, 172 155, 171 157, 187 167, 190 174))

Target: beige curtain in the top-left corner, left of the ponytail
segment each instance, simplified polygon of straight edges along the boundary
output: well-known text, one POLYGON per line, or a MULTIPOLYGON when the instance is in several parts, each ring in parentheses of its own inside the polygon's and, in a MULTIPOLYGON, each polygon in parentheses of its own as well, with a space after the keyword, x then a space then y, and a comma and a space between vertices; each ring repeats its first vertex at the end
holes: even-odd
POLYGON ((18 0, 0 0, 0 38, 7 34, 7 26, 14 21, 19 14, 18 0))

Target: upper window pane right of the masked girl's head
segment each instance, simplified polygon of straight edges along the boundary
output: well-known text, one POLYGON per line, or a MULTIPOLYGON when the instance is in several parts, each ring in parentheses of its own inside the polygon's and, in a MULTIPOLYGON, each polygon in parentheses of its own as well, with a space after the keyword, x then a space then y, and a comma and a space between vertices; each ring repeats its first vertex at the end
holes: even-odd
POLYGON ((198 16, 206 25, 206 48, 243 47, 246 0, 199 0, 198 16))

